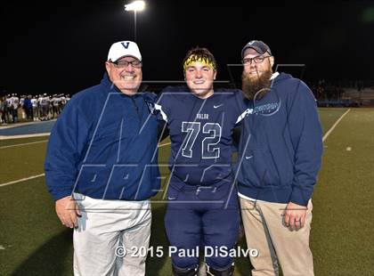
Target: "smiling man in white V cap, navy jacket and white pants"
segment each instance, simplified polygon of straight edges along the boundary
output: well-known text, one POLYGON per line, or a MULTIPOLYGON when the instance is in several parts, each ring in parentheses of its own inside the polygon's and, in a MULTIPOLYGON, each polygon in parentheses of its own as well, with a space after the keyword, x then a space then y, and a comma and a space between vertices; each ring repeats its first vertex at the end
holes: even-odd
POLYGON ((75 94, 48 143, 45 178, 61 223, 74 228, 75 275, 144 275, 150 197, 159 190, 151 93, 139 93, 142 55, 110 47, 100 85, 75 94))

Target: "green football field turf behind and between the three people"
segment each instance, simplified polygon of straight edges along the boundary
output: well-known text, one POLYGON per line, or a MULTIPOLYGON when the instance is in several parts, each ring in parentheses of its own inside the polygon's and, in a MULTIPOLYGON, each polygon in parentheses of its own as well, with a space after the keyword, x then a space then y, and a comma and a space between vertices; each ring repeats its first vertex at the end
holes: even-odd
MULTIPOLYGON (((317 276, 374 275, 374 110, 346 111, 320 110, 324 155, 311 234, 317 276)), ((0 275, 72 275, 72 231, 55 215, 42 175, 47 139, 0 141, 0 275)), ((165 164, 170 148, 162 143, 165 164)), ((167 167, 161 172, 167 176, 167 167)), ((161 198, 160 192, 154 200, 161 198)), ((165 207, 152 203, 153 248, 168 246, 165 207)), ((246 248, 244 238, 238 246, 246 248)), ((165 255, 148 258, 146 275, 172 275, 165 255)), ((235 264, 235 275, 250 275, 247 258, 235 264)))

